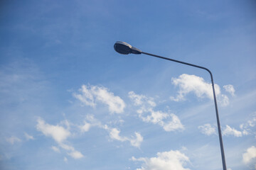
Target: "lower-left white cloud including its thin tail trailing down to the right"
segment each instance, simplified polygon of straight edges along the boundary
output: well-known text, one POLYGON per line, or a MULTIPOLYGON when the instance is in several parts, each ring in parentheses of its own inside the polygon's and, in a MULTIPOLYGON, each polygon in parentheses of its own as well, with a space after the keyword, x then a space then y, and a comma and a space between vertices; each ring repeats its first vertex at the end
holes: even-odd
MULTIPOLYGON (((48 123, 45 123, 42 118, 38 118, 38 124, 36 125, 36 128, 38 131, 43 132, 43 135, 46 135, 47 137, 53 137, 53 140, 55 140, 55 142, 57 142, 61 148, 68 151, 68 155, 70 155, 70 157, 73 157, 74 159, 82 158, 83 155, 75 150, 74 147, 64 144, 65 140, 70 137, 71 132, 69 131, 70 123, 65 120, 63 121, 63 124, 67 128, 64 128, 61 125, 49 125, 48 123)), ((58 147, 51 147, 51 149, 53 149, 55 152, 60 152, 58 147)))

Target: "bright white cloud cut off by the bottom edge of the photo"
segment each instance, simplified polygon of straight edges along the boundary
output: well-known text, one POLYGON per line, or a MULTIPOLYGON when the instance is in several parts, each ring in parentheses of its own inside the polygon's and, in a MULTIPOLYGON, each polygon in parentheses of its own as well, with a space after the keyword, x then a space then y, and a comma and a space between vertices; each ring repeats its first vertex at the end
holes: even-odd
POLYGON ((189 162, 189 158, 177 151, 158 152, 157 157, 141 157, 136 159, 132 157, 132 161, 143 162, 142 167, 137 170, 189 170, 185 168, 189 162))

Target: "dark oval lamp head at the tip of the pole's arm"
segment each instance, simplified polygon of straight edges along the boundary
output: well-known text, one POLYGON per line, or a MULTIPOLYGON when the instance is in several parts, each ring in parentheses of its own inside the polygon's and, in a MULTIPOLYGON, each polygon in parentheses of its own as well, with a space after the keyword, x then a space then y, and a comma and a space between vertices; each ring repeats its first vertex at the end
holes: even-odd
POLYGON ((137 49, 136 47, 132 47, 132 45, 129 45, 127 42, 117 41, 114 44, 114 50, 116 52, 122 54, 122 55, 129 55, 132 54, 142 54, 142 51, 137 49))

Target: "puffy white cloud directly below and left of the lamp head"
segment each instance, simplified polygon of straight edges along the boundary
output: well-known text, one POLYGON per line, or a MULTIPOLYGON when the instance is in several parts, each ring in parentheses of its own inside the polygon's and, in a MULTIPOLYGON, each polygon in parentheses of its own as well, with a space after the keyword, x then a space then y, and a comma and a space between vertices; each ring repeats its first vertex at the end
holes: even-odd
POLYGON ((80 94, 74 93, 73 96, 87 106, 95 107, 97 102, 100 102, 106 104, 111 113, 124 112, 125 103, 122 98, 114 96, 114 94, 104 86, 82 85, 79 91, 80 94))

